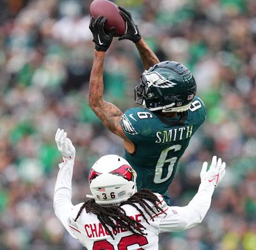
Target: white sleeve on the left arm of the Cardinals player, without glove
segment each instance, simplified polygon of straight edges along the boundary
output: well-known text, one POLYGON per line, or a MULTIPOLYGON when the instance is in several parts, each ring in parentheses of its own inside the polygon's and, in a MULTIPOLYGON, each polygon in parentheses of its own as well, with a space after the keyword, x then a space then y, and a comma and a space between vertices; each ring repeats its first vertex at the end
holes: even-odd
POLYGON ((53 196, 54 212, 68 233, 74 237, 68 225, 70 214, 74 206, 72 198, 72 175, 74 163, 60 163, 60 170, 56 180, 53 196))

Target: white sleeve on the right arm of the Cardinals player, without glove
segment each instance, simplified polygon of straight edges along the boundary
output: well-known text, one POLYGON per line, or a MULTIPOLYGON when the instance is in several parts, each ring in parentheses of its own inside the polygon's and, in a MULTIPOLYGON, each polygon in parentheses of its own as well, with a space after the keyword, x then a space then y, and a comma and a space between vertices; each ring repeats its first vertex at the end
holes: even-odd
POLYGON ((186 207, 169 207, 159 223, 160 232, 179 232, 201 223, 211 205, 213 192, 211 183, 202 182, 186 207))

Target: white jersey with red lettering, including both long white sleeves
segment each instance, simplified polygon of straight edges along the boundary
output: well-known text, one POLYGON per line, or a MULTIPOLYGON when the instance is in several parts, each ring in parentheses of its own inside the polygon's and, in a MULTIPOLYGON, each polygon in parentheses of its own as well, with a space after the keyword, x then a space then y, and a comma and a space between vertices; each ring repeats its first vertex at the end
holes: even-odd
MULTIPOLYGON (((99 222, 97 216, 86 213, 85 209, 77 221, 74 221, 83 203, 76 206, 71 203, 73 165, 73 163, 61 163, 59 165, 60 172, 54 191, 54 211, 70 235, 79 240, 88 250, 157 250, 159 233, 178 232, 201 223, 211 204, 214 186, 209 182, 203 182, 200 184, 198 193, 186 207, 170 207, 164 202, 161 195, 156 194, 161 201, 159 205, 164 212, 154 214, 153 219, 150 219, 150 216, 138 205, 141 211, 144 211, 143 214, 148 219, 149 224, 136 208, 131 205, 123 205, 122 208, 128 216, 145 226, 145 235, 136 235, 119 228, 117 233, 113 231, 115 234, 115 239, 113 239, 99 222)), ((153 207, 152 203, 148 202, 148 204, 153 207)))

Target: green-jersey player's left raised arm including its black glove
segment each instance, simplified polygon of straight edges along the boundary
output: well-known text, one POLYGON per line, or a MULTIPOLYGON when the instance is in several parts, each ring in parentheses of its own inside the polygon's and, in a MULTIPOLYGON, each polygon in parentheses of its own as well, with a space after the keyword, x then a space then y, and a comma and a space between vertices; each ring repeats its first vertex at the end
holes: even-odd
POLYGON ((95 52, 90 75, 89 105, 106 128, 125 139, 126 137, 120 124, 123 113, 118 107, 113 105, 113 103, 109 103, 103 98, 105 52, 111 45, 114 33, 114 29, 108 34, 104 32, 105 22, 106 18, 102 16, 98 17, 96 20, 92 17, 90 22, 90 30, 92 31, 93 41, 95 43, 95 52))

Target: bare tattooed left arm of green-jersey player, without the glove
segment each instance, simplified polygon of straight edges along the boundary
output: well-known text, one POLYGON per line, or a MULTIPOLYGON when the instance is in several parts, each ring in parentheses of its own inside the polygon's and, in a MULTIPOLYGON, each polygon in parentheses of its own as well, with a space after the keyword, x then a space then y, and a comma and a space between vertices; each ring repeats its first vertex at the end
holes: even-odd
POLYGON ((122 111, 105 101, 103 98, 104 83, 103 83, 103 66, 105 52, 95 51, 92 71, 90 75, 89 87, 89 105, 93 112, 99 117, 104 126, 116 135, 126 138, 122 130, 120 120, 123 115, 122 111))

